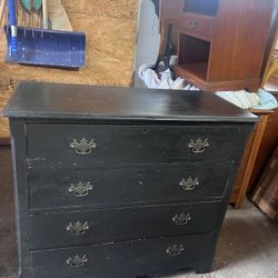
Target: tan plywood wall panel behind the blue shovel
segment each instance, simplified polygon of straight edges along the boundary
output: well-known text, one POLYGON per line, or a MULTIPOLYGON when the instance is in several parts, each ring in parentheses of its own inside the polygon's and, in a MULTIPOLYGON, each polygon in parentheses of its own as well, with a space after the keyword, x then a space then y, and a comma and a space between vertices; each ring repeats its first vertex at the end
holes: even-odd
POLYGON ((0 88, 18 80, 125 86, 132 83, 137 0, 62 0, 77 31, 87 34, 87 66, 79 71, 4 63, 6 38, 0 36, 0 88))

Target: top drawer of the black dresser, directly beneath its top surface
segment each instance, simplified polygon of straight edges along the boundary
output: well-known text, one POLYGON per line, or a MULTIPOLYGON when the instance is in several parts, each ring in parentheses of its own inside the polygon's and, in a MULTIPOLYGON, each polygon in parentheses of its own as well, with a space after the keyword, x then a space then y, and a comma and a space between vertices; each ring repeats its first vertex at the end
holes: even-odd
POLYGON ((230 162, 240 140, 239 133, 239 128, 228 126, 27 123, 27 157, 29 168, 230 162))

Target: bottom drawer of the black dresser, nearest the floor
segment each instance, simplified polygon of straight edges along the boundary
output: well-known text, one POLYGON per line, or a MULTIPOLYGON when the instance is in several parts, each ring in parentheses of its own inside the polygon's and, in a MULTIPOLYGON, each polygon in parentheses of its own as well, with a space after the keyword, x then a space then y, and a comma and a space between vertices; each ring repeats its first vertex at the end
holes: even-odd
POLYGON ((79 248, 34 251, 34 277, 77 277, 110 269, 165 265, 202 259, 208 255, 211 234, 110 242, 79 248))

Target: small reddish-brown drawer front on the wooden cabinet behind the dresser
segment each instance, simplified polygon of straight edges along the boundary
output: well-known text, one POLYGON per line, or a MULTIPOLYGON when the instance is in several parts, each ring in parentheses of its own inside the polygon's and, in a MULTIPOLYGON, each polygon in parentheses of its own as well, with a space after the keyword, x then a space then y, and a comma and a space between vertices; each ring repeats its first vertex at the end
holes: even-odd
POLYGON ((180 14, 181 32, 210 40, 214 30, 214 18, 182 12, 180 14))

